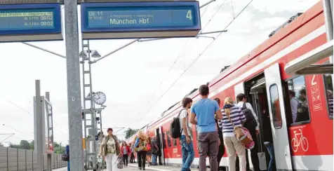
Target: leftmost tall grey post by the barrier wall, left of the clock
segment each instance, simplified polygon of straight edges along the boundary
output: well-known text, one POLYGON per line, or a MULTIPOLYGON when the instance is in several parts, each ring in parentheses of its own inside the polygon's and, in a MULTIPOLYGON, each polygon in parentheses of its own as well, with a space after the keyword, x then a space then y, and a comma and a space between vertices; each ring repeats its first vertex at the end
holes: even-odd
POLYGON ((43 171, 43 139, 42 139, 42 111, 41 111, 41 81, 35 80, 35 89, 36 89, 36 121, 35 125, 35 151, 37 156, 37 170, 43 171))

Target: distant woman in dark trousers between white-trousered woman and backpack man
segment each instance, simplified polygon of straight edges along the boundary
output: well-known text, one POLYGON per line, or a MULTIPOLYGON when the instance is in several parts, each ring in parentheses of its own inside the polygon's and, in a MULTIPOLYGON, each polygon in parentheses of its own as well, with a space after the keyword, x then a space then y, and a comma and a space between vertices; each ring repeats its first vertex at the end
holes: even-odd
POLYGON ((146 136, 142 133, 142 131, 138 132, 138 136, 135 139, 135 151, 137 152, 139 170, 145 170, 147 146, 146 136))

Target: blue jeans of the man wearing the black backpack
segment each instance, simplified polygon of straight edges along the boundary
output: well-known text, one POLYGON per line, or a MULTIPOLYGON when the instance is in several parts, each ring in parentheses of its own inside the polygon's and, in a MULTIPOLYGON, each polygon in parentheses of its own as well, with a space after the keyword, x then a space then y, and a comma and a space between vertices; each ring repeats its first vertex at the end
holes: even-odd
POLYGON ((182 150, 182 169, 181 171, 188 171, 190 166, 192 166, 192 162, 194 161, 194 146, 192 142, 189 144, 185 139, 185 135, 181 135, 180 144, 182 150))

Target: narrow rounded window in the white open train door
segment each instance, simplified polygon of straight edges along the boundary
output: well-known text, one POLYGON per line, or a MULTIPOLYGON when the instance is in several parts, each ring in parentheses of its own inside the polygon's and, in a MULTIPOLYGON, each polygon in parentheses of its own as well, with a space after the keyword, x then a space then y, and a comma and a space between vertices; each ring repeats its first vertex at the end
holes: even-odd
POLYGON ((279 104, 279 89, 276 84, 269 88, 272 118, 276 129, 282 128, 281 105, 279 104))

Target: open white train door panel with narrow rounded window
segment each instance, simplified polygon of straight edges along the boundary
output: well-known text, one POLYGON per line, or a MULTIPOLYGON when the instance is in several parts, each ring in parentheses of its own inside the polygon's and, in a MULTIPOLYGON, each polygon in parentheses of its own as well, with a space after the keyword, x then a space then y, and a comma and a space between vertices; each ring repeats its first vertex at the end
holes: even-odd
MULTIPOLYGON (((277 170, 293 170, 279 64, 265 69, 266 90, 277 170)), ((290 106, 290 105, 288 105, 290 106)))

